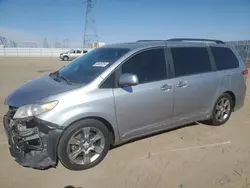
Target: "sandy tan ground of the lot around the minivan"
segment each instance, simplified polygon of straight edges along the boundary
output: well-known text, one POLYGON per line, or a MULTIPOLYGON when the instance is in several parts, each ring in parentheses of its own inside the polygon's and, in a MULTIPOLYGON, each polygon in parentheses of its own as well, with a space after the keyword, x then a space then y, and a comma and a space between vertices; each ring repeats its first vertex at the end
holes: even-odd
MULTIPOLYGON (((0 117, 7 110, 4 98, 15 87, 64 64, 57 58, 0 57, 0 117)), ((62 165, 46 171, 19 166, 9 155, 0 126, 0 187, 250 188, 249 95, 224 126, 197 124, 128 143, 81 172, 62 165)))

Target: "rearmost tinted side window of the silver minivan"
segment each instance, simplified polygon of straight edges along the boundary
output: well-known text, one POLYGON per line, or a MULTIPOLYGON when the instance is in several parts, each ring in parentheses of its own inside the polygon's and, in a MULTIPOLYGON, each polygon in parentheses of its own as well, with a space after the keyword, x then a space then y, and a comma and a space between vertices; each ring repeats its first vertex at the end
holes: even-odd
POLYGON ((217 70, 232 69, 239 67, 239 62, 229 48, 210 47, 214 56, 217 70))

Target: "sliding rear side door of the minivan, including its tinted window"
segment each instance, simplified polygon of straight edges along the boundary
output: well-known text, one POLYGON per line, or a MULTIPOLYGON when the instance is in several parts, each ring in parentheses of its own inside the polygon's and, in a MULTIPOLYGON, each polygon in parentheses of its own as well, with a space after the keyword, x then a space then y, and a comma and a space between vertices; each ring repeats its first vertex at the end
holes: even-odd
POLYGON ((172 47, 175 105, 173 124, 208 116, 213 108, 219 75, 204 47, 172 47))

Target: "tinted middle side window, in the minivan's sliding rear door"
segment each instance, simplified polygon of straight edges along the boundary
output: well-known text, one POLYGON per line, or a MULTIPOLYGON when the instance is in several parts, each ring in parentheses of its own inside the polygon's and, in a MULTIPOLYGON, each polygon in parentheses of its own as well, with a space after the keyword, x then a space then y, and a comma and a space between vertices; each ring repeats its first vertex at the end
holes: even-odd
POLYGON ((171 52, 176 77, 211 71, 210 60, 206 48, 172 48, 171 52))

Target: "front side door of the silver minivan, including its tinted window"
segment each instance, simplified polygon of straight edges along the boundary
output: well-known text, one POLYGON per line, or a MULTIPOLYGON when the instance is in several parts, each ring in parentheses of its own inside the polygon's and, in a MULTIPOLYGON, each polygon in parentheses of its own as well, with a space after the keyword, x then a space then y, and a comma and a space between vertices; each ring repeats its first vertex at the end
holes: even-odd
POLYGON ((120 136, 130 138, 171 125, 173 84, 167 79, 164 48, 148 49, 125 61, 120 74, 136 74, 139 84, 114 89, 120 136))

